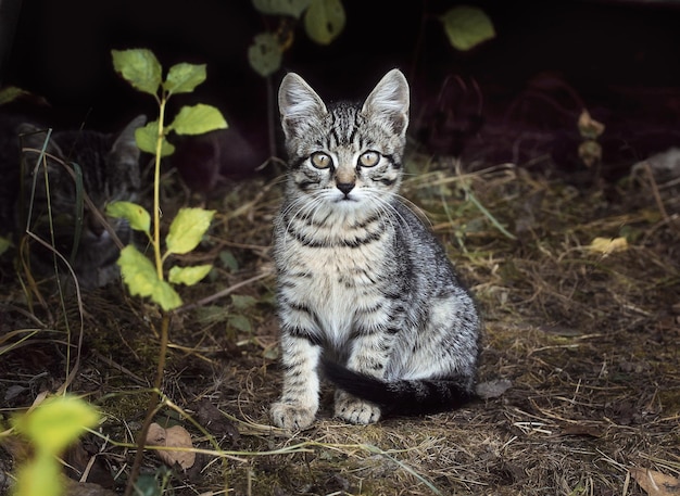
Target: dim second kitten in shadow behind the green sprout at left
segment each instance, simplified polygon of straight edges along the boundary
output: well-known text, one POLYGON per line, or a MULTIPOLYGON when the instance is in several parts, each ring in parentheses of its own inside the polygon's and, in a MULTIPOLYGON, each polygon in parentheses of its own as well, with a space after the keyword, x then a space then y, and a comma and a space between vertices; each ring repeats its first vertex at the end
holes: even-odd
MULTIPOLYGON (((30 212, 29 230, 51 244, 50 214, 54 245, 59 253, 70 259, 80 288, 102 287, 118 276, 115 262, 119 250, 111 233, 102 224, 102 217, 85 203, 83 219, 76 220, 77 188, 74 176, 65 164, 77 164, 83 171, 83 190, 101 214, 109 202, 116 200, 136 201, 140 186, 139 149, 135 130, 146 123, 143 115, 133 119, 117 135, 92 130, 58 131, 47 144, 48 185, 42 164, 38 167, 39 152, 47 133, 35 125, 3 119, 3 153, 0 155, 0 171, 4 182, 0 186, 0 229, 3 233, 14 231, 21 237, 26 230, 30 212), (20 152, 20 143, 22 151, 20 152), (21 165, 23 161, 23 166, 21 165), (23 168, 23 174, 22 174, 23 168), (34 177, 36 190, 32 202, 34 177), (76 230, 80 226, 79 241, 74 252, 76 230)), ((126 221, 108 219, 123 244, 130 241, 131 232, 126 221)), ((61 267, 64 268, 63 265, 61 267)), ((30 271, 45 277, 54 274, 53 254, 40 243, 32 241, 30 271)), ((64 279, 67 272, 62 271, 64 279)))

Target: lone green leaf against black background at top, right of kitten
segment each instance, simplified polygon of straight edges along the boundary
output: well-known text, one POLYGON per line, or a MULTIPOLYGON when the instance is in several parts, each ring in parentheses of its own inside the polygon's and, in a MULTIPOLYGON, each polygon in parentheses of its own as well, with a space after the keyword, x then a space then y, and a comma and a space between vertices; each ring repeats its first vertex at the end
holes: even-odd
POLYGON ((493 23, 477 7, 457 5, 441 17, 444 30, 453 48, 462 51, 469 50, 477 44, 495 38, 493 23))

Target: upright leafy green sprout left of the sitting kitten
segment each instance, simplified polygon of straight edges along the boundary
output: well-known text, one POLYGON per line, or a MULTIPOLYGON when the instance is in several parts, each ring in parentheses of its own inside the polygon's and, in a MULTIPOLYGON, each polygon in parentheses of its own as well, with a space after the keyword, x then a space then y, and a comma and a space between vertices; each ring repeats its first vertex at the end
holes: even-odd
POLYGON ((181 305, 181 298, 172 284, 191 285, 210 272, 212 265, 178 267, 169 269, 165 280, 163 263, 173 254, 191 252, 207 231, 214 211, 181 208, 169 227, 165 238, 165 252, 161 243, 160 228, 160 176, 161 158, 174 152, 167 141, 171 131, 177 135, 202 135, 215 129, 226 129, 227 123, 222 113, 211 106, 197 104, 182 106, 175 119, 165 125, 165 107, 169 98, 178 93, 189 93, 205 80, 204 64, 176 64, 163 80, 163 68, 150 50, 113 50, 115 71, 134 88, 151 94, 159 104, 159 118, 137 129, 135 138, 140 150, 155 156, 153 181, 153 216, 142 206, 130 202, 115 202, 106 207, 106 214, 129 221, 135 230, 147 234, 153 247, 153 263, 134 245, 121 252, 118 265, 123 280, 130 294, 150 297, 163 310, 168 311, 181 305))

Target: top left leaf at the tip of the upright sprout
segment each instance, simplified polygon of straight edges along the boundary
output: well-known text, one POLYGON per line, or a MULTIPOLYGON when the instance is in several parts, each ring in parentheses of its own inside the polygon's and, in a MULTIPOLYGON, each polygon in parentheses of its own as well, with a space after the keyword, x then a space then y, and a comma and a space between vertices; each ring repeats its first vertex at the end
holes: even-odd
POLYGON ((144 48, 111 50, 113 68, 139 91, 155 96, 163 80, 161 63, 144 48))

